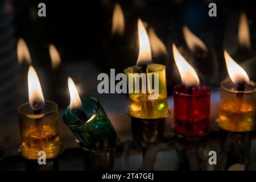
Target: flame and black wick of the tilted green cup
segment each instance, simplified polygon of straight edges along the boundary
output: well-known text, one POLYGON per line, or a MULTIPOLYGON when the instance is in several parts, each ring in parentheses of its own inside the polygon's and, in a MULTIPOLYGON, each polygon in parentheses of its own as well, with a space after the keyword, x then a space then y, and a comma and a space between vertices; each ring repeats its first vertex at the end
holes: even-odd
POLYGON ((76 85, 71 77, 68 77, 68 89, 70 94, 69 108, 71 112, 77 115, 81 123, 87 122, 89 117, 81 109, 82 102, 80 100, 79 93, 77 92, 76 85))

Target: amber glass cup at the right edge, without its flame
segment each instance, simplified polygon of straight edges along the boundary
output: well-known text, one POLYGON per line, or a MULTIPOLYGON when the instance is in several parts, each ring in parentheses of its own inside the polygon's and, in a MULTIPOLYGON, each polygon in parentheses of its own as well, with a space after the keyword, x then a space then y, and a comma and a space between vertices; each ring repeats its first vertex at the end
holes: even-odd
POLYGON ((218 126, 233 132, 255 129, 256 84, 250 81, 244 91, 227 79, 221 82, 221 103, 218 126))

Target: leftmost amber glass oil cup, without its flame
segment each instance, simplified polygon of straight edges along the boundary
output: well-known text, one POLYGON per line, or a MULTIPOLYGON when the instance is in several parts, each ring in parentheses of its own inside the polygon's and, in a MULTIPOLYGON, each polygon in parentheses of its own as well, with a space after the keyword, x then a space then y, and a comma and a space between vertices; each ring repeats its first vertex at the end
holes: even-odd
POLYGON ((25 103, 18 107, 18 113, 22 142, 20 155, 26 159, 38 159, 39 151, 46 152, 46 159, 59 155, 61 144, 57 104, 46 101, 42 113, 34 114, 30 105, 25 103))

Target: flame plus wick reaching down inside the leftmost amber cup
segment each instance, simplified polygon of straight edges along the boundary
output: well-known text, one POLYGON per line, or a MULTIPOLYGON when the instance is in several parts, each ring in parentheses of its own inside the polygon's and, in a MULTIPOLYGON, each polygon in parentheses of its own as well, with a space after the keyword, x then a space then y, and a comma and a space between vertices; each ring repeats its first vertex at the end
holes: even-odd
MULTIPOLYGON (((41 114, 44 107, 44 96, 42 88, 39 82, 38 75, 34 67, 30 66, 28 69, 28 100, 34 114, 41 114)), ((39 137, 43 133, 43 120, 42 118, 35 119, 36 128, 38 130, 39 137)))

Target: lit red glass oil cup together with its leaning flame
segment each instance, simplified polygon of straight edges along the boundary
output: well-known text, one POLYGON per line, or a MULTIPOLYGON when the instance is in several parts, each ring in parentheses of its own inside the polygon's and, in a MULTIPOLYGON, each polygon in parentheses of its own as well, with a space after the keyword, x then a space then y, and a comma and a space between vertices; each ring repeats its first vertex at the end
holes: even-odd
POLYGON ((195 69, 188 64, 175 44, 172 44, 172 51, 182 81, 182 84, 174 87, 175 133, 189 137, 208 134, 210 89, 199 85, 195 69))

